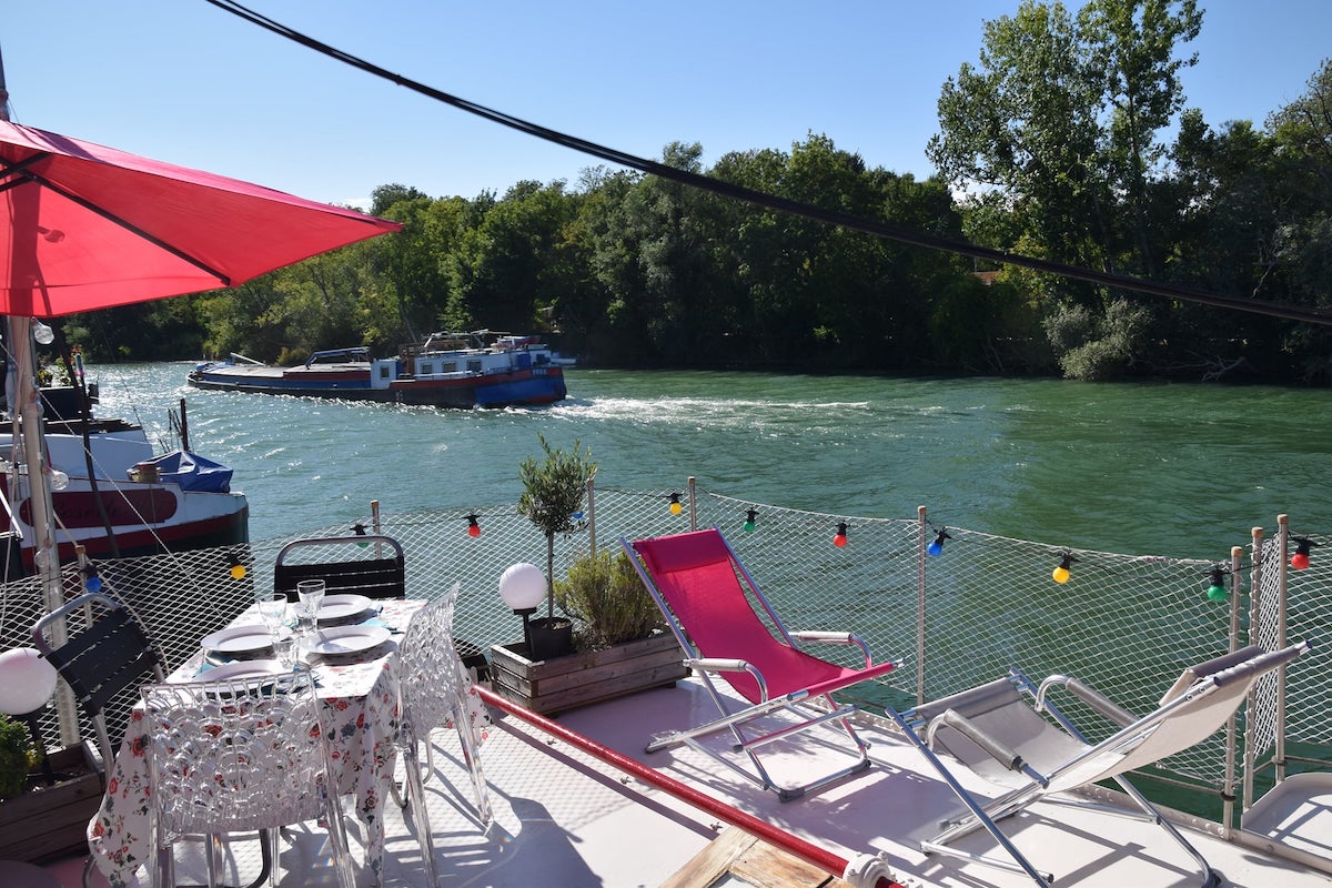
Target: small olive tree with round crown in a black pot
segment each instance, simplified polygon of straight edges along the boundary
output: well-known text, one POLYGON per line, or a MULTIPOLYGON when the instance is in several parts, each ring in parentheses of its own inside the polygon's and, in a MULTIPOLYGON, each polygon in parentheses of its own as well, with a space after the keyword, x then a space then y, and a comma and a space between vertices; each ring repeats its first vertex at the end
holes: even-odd
POLYGON ((574 515, 582 511, 587 481, 597 474, 597 463, 578 441, 571 453, 551 449, 539 433, 537 441, 546 458, 527 457, 518 466, 522 479, 518 513, 546 537, 546 615, 530 623, 530 652, 534 659, 543 660, 573 652, 573 620, 555 616, 555 535, 574 530, 574 515))

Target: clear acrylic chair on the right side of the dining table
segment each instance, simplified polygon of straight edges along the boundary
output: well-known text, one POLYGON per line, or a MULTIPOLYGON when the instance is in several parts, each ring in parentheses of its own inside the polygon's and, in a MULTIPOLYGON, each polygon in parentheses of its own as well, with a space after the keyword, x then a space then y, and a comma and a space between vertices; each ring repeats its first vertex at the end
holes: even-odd
POLYGON ((453 724, 462 747, 462 762, 472 777, 477 799, 477 820, 482 831, 489 831, 493 820, 490 795, 485 771, 477 750, 477 738, 468 715, 468 683, 453 643, 453 610, 458 600, 458 584, 412 618, 408 631, 398 644, 398 688, 402 714, 398 730, 398 748, 406 770, 406 788, 398 797, 402 807, 410 805, 421 855, 426 863, 430 884, 436 883, 434 857, 430 853, 430 820, 425 805, 425 777, 434 774, 434 754, 430 732, 453 724), (421 746, 425 744, 422 776, 421 746))

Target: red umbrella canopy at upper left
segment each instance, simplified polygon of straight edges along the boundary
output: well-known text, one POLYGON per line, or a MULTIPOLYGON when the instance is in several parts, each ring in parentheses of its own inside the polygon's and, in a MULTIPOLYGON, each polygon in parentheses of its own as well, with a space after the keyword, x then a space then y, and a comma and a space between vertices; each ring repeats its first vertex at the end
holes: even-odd
POLYGON ((0 314, 238 286, 398 222, 0 120, 0 314))

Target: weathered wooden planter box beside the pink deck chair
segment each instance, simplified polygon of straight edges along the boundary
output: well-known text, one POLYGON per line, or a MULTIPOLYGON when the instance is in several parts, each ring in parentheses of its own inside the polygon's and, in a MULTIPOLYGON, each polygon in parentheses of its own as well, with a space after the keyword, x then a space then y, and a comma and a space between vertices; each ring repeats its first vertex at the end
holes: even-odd
POLYGON ((494 692, 543 715, 666 687, 686 675, 685 654, 670 632, 550 660, 527 659, 522 642, 490 648, 494 692))

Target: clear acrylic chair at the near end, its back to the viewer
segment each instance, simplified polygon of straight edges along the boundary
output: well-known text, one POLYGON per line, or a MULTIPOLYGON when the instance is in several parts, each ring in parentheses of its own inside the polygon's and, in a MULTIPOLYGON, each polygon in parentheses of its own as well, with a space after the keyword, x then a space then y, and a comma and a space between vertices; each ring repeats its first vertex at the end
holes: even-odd
POLYGON ((342 888, 354 888, 346 831, 309 671, 281 676, 144 687, 153 807, 155 888, 174 879, 173 841, 208 840, 208 884, 221 872, 221 836, 261 831, 277 884, 277 828, 328 824, 342 888))

